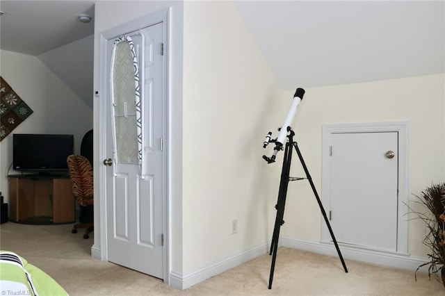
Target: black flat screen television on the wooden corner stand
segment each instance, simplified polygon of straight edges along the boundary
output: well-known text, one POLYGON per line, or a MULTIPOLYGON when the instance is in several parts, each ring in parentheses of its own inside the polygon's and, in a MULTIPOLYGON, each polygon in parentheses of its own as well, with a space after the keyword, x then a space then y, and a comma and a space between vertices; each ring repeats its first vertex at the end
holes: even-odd
POLYGON ((13 134, 13 170, 38 174, 67 171, 71 154, 73 135, 13 134))

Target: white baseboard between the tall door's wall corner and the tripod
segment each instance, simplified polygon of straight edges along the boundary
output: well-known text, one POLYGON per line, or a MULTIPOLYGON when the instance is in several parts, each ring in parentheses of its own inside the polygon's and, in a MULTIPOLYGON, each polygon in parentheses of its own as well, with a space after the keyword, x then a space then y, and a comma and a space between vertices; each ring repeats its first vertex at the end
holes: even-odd
POLYGON ((202 268, 181 274, 179 272, 170 272, 170 286, 185 290, 197 283, 210 279, 218 274, 222 274, 227 270, 236 268, 236 266, 251 261, 258 256, 264 255, 268 252, 268 244, 253 247, 245 252, 241 252, 235 256, 229 257, 223 261, 213 262, 209 265, 204 265, 202 268))

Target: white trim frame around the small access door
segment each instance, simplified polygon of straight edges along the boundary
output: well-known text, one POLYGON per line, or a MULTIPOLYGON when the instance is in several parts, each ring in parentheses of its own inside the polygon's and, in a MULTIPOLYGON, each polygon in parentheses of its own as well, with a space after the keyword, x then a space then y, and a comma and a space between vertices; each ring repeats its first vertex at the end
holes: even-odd
MULTIPOLYGON (((330 208, 330 146, 332 135, 336 133, 398 133, 398 201, 397 201, 397 247, 396 254, 408 255, 408 200, 409 200, 409 124, 408 122, 371 122, 356 124, 323 124, 322 125, 322 173, 321 190, 323 205, 330 208)), ((332 229, 335 235, 335 229, 332 229)), ((321 242, 332 243, 330 233, 322 221, 321 242)), ((352 248, 364 249, 347 245, 352 248)), ((365 248, 368 249, 368 248, 365 248)), ((369 248, 369 250, 380 252, 369 248)), ((387 253, 387 252, 384 252, 387 253)))

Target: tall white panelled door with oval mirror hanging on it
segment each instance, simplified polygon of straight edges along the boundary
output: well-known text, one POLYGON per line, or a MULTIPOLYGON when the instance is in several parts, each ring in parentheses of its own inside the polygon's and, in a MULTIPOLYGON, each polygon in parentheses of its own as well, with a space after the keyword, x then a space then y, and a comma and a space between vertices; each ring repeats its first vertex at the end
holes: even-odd
POLYGON ((160 22, 106 42, 109 116, 108 161, 104 162, 110 165, 106 169, 108 261, 161 279, 165 266, 163 40, 160 22), (118 39, 123 41, 116 45, 118 39), (131 47, 136 60, 129 53, 131 47), (135 100, 138 88, 140 104, 135 100))

